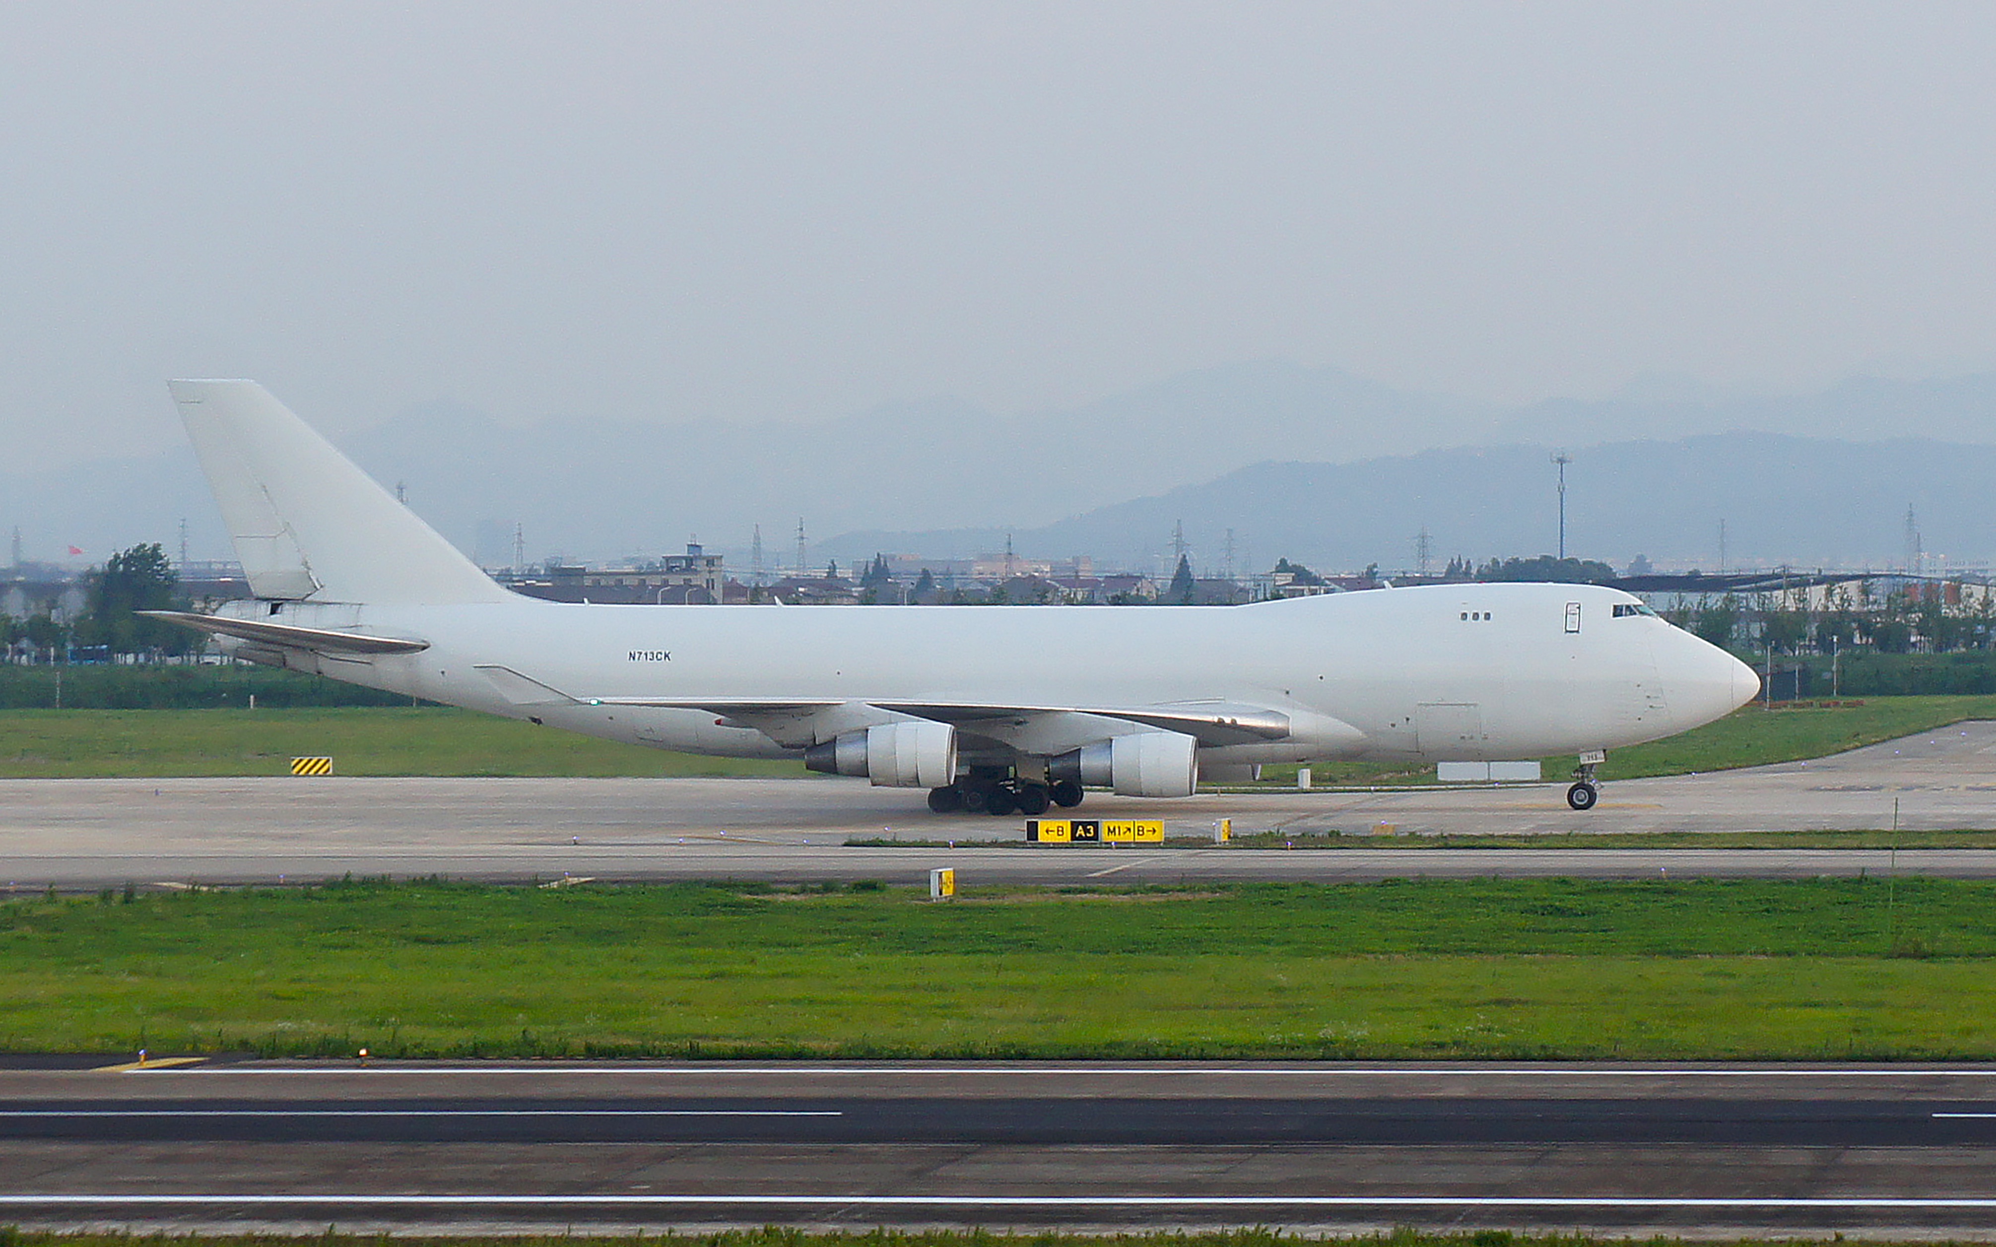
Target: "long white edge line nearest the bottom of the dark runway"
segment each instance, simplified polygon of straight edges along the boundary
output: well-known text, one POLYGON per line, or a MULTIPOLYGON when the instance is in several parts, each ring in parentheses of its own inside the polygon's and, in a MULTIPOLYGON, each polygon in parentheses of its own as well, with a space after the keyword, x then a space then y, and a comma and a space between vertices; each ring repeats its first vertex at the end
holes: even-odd
POLYGON ((1996 1209, 1996 1197, 1679 1195, 0 1195, 0 1207, 1601 1207, 1601 1209, 1996 1209))

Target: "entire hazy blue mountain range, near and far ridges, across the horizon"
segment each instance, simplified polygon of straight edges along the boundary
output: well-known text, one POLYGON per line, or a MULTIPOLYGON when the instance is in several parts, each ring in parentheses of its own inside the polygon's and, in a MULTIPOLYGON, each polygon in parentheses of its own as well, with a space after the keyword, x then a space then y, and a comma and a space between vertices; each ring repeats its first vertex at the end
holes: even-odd
MULTIPOLYGON (((283 395, 279 395, 283 397, 283 395)), ((166 399, 162 397, 162 403, 166 399)), ((293 399, 295 401, 295 399, 293 399)), ((313 419, 309 407, 303 411, 313 419)), ((1541 553, 1557 543, 1547 447, 1573 453, 1569 549, 1625 563, 1898 563, 1914 507, 1926 549, 1996 553, 1996 375, 1856 379, 1812 395, 1752 397, 1649 381, 1601 401, 1495 407, 1391 389, 1291 363, 1202 369, 1064 411, 994 415, 952 399, 812 427, 501 425, 425 405, 343 439, 377 479, 485 563, 677 551, 699 535, 745 565, 876 549, 930 557, 1000 549, 1146 563, 1172 527, 1202 567, 1277 555, 1327 567, 1541 553), (1918 441, 1910 441, 1918 439, 1918 441)), ((90 559, 138 541, 226 557, 214 503, 186 449, 36 477, 0 475, 0 533, 28 557, 90 559)))

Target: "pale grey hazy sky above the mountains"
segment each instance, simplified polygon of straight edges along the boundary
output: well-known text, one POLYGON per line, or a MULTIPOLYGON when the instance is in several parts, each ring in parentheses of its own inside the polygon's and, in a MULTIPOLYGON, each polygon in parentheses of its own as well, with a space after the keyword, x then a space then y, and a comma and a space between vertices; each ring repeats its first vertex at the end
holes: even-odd
POLYGON ((1996 365, 1990 4, 0 10, 0 455, 1066 405, 1234 359, 1483 399, 1996 365))

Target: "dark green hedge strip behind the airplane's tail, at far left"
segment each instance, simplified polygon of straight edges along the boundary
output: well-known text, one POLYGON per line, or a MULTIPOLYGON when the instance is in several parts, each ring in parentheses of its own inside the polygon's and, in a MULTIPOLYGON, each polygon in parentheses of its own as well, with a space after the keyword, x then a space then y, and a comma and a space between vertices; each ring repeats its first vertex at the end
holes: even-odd
POLYGON ((244 710, 251 704, 269 710, 409 706, 411 698, 267 666, 0 664, 0 710, 244 710))

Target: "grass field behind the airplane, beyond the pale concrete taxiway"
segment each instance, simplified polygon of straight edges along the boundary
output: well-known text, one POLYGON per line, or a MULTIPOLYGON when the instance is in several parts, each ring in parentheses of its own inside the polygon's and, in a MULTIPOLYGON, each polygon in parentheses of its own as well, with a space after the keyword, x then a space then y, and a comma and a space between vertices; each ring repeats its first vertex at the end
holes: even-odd
MULTIPOLYGON (((1996 696, 1870 698, 1834 710, 1746 708, 1683 736, 1615 750, 1605 780, 1818 758, 1964 718, 1996 718, 1996 696)), ((339 774, 429 776, 804 776, 798 762, 697 758, 439 706, 319 710, 0 710, 0 778, 281 774, 331 754, 339 774)), ((1559 778, 1573 758, 1549 758, 1559 778)), ((1433 766, 1319 762, 1315 782, 1431 782, 1433 766)), ((1295 786, 1293 766, 1263 786, 1295 786)))

